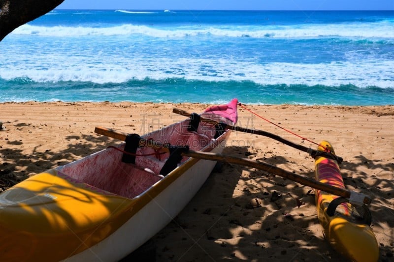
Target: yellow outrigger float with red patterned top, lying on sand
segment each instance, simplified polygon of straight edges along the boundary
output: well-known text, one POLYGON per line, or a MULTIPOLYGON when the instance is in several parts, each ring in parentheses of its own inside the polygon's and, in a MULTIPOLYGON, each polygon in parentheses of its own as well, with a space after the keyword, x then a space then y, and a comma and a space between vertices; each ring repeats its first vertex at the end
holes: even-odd
MULTIPOLYGON (((318 146, 321 152, 335 154, 327 141, 318 146)), ((342 175, 334 158, 316 156, 315 179, 322 183, 345 189, 342 175)), ((365 204, 358 199, 346 199, 317 190, 316 205, 319 223, 329 243, 344 257, 357 262, 374 262, 379 258, 379 247, 370 227, 371 215, 365 204), (352 202, 361 203, 362 219, 355 220, 352 202)))

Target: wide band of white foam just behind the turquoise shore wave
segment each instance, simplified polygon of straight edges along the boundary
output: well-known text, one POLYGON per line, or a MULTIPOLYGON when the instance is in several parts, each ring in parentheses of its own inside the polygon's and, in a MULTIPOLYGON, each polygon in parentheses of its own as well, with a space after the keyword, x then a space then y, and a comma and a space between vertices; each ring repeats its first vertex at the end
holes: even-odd
MULTIPOLYGON (((32 57, 32 59, 39 59, 32 57)), ((272 62, 258 64, 229 59, 190 58, 125 58, 124 60, 97 61, 69 56, 63 61, 43 61, 50 69, 20 63, 5 67, 0 78, 31 79, 34 82, 82 81, 93 83, 124 83, 129 80, 164 80, 183 78, 191 81, 251 81, 261 85, 325 85, 352 84, 358 87, 394 88, 394 62, 392 60, 357 62, 331 62, 299 64, 272 62), (209 65, 209 66, 207 66, 209 65)))

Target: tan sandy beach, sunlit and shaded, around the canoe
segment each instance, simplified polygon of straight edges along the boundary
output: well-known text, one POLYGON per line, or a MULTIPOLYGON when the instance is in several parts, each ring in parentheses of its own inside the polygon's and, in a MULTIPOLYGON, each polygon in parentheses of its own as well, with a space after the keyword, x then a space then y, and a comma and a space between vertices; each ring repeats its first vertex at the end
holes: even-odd
MULTIPOLYGON (((174 107, 198 113, 207 105, 1 103, 0 120, 5 130, 0 131, 0 187, 4 190, 30 175, 120 143, 94 133, 96 126, 142 135, 183 120, 172 113, 174 107)), ((248 108, 316 143, 332 143, 344 159, 340 167, 347 188, 373 198, 370 209, 379 261, 392 261, 394 106, 248 108)), ((239 110, 238 125, 315 148, 244 109, 239 110)), ((314 177, 311 157, 265 137, 233 132, 224 153, 314 177)), ((195 198, 153 241, 159 262, 346 261, 323 237, 310 187, 230 164, 212 173, 195 198), (272 200, 273 194, 278 200, 272 200), (302 203, 299 207, 296 199, 302 203)))

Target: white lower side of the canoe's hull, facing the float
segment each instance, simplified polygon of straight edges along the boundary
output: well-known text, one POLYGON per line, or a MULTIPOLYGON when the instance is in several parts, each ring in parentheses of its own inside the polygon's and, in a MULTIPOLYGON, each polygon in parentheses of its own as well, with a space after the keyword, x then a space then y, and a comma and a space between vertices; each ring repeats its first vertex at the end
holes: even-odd
MULTIPOLYGON (((224 134, 223 140, 211 152, 222 153, 230 132, 224 134)), ((188 161, 196 160, 189 159, 188 161)), ((185 162, 184 164, 188 165, 189 163, 185 162)), ((110 262, 124 258, 162 230, 182 211, 204 184, 215 165, 215 161, 197 160, 185 173, 171 182, 117 231, 95 246, 68 258, 66 261, 99 260, 110 262)), ((177 169, 168 174, 168 178, 176 172, 178 172, 177 169)))

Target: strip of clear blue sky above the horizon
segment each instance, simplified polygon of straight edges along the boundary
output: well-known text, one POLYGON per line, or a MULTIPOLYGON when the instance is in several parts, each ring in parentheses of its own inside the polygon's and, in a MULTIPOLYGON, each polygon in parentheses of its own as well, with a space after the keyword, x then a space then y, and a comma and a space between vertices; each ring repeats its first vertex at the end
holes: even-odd
POLYGON ((59 9, 394 10, 394 0, 65 0, 59 9))

